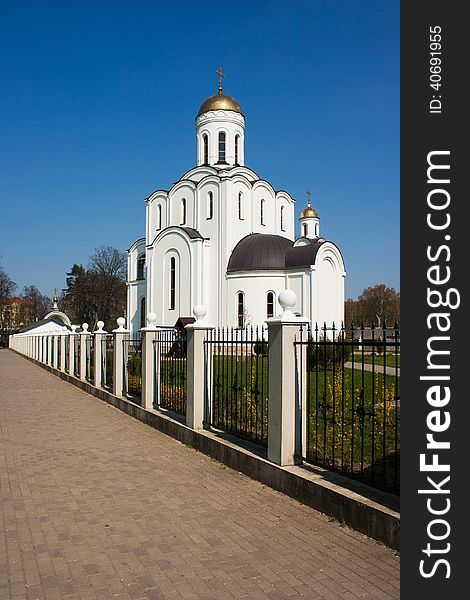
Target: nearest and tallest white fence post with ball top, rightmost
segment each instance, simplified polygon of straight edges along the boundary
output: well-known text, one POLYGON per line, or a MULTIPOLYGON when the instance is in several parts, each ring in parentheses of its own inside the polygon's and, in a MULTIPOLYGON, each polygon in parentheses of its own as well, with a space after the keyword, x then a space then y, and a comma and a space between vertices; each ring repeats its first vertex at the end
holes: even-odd
MULTIPOLYGON (((298 364, 294 342, 299 341, 301 328, 309 322, 296 317, 292 308, 297 296, 292 290, 279 294, 283 308, 280 317, 267 320, 269 330, 269 411, 268 411, 268 459, 278 465, 294 464, 297 451, 301 451, 304 434, 299 426, 302 404, 299 397, 298 364)), ((305 379, 305 377, 304 377, 305 379)))

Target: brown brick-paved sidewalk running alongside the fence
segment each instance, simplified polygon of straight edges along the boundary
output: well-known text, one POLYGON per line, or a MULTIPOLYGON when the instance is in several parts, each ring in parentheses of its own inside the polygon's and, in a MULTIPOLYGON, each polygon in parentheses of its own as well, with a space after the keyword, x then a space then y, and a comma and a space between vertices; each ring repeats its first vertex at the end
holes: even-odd
POLYGON ((399 598, 399 559, 0 350, 0 599, 399 598))

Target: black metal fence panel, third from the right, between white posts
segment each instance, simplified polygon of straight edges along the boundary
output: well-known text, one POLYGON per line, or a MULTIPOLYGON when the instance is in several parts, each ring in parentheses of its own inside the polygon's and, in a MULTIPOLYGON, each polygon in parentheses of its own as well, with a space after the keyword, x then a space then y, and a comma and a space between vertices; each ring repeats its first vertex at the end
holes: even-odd
POLYGON ((155 405, 186 415, 186 333, 174 329, 155 332, 155 405))

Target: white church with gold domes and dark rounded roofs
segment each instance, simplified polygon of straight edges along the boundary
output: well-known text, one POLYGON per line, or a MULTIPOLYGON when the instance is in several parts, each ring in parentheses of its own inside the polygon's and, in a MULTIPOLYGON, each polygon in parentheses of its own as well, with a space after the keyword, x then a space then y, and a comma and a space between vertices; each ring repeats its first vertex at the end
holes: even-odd
POLYGON ((138 331, 149 312, 174 326, 198 304, 212 325, 263 326, 284 289, 297 295, 296 314, 340 325, 341 252, 321 237, 310 197, 295 239, 295 201, 245 166, 243 110, 218 74, 196 116, 196 166, 146 199, 145 237, 128 251, 128 326, 138 331))

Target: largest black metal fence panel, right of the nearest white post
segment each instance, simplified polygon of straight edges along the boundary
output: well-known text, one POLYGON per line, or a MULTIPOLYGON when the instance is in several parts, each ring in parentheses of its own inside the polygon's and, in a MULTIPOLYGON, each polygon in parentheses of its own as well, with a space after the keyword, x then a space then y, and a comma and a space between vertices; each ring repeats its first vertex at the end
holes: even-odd
POLYGON ((384 325, 365 333, 364 326, 316 327, 295 343, 306 419, 303 458, 399 493, 399 329, 384 325))

